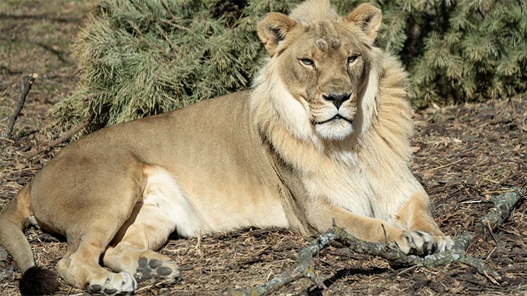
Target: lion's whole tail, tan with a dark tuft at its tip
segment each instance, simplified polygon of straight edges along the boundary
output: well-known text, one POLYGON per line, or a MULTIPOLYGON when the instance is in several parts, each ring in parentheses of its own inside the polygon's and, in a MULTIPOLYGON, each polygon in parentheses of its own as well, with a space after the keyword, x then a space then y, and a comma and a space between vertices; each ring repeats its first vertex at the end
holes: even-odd
POLYGON ((24 230, 30 226, 30 191, 31 183, 6 205, 0 214, 0 244, 13 257, 23 275, 20 279, 22 295, 46 295, 58 288, 57 275, 54 271, 35 266, 30 243, 24 230))

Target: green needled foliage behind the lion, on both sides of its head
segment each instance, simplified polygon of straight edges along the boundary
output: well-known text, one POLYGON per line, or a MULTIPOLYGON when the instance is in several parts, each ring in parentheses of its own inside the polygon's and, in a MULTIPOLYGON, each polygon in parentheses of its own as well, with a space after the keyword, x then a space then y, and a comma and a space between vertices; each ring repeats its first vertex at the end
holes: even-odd
MULTIPOLYGON (((341 15, 366 1, 335 0, 341 15)), ((521 0, 377 0, 377 45, 410 72, 416 107, 526 91, 527 4, 521 0)), ((79 34, 81 86, 51 110, 89 131, 250 87, 267 56, 266 13, 297 0, 98 0, 79 34)))

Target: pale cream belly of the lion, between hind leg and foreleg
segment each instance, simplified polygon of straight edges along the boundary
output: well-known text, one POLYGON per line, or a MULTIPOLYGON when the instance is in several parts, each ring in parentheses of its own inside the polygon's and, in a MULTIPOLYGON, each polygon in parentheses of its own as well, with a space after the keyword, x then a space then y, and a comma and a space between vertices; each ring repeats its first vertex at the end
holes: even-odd
POLYGON ((289 226, 278 193, 257 181, 223 175, 207 183, 195 182, 157 166, 146 168, 145 176, 143 202, 159 207, 181 236, 289 226))

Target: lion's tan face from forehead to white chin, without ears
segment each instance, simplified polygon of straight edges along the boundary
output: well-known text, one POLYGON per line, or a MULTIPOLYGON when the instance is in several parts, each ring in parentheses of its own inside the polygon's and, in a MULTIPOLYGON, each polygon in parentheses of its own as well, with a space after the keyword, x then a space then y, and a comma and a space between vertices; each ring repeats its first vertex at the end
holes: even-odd
POLYGON ((340 26, 308 28, 280 56, 280 77, 289 93, 305 105, 317 134, 344 139, 353 132, 360 86, 365 80, 363 49, 340 26))

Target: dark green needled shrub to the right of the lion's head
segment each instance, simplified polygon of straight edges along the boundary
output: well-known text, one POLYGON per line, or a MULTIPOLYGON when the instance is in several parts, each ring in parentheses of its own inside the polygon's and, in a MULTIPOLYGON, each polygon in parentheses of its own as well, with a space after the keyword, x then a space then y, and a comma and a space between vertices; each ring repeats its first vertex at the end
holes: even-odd
MULTIPOLYGON (((401 1, 404 2, 404 1, 401 1)), ((527 4, 412 1, 401 53, 418 106, 507 98, 527 89, 527 4)))

